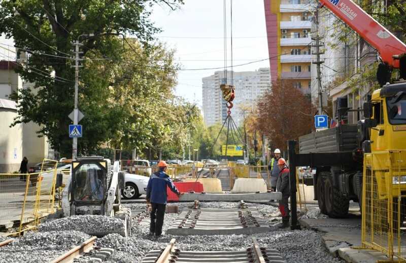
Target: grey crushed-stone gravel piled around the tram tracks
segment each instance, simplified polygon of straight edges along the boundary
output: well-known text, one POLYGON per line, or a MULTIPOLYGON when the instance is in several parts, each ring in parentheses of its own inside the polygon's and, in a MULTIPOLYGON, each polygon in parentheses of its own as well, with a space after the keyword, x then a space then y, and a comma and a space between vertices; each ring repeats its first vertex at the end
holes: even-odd
MULTIPOLYGON (((190 209, 193 202, 187 203, 171 203, 179 207, 179 213, 190 209)), ((247 203, 249 207, 256 207, 260 214, 271 225, 271 231, 267 233, 254 234, 254 235, 214 235, 214 236, 172 236, 165 235, 167 228, 175 221, 178 214, 165 214, 163 224, 163 236, 155 239, 149 236, 149 227, 147 224, 140 224, 137 220, 132 220, 131 236, 124 238, 119 234, 109 234, 96 240, 96 246, 100 248, 112 248, 114 252, 107 258, 108 263, 118 262, 141 262, 145 255, 153 249, 165 248, 172 238, 176 239, 176 247, 184 251, 237 251, 246 250, 247 247, 252 246, 252 238, 255 237, 261 247, 270 249, 277 249, 286 262, 344 262, 339 258, 331 256, 323 245, 321 234, 312 230, 304 229, 302 231, 291 231, 289 228, 279 229, 275 225, 280 222, 280 213, 277 207, 265 204, 247 203)), ((124 204, 124 207, 132 210, 145 209, 145 203, 141 204, 124 204)), ((238 208, 238 202, 200 202, 201 208, 238 208)), ((69 218, 61 218, 53 221, 48 221, 40 226, 39 237, 34 238, 29 235, 19 238, 20 245, 14 245, 15 248, 8 248, 7 253, 13 254, 15 252, 17 257, 12 260, 2 261, 5 256, 9 254, 2 254, 0 249, 0 263, 2 262, 43 262, 39 259, 32 259, 32 252, 23 253, 24 246, 28 247, 28 251, 39 249, 42 247, 41 253, 44 256, 55 256, 56 250, 58 253, 66 251, 66 247, 77 245, 83 242, 90 236, 77 232, 82 231, 90 233, 94 228, 103 227, 104 229, 116 229, 119 223, 115 218, 100 217, 100 216, 73 216, 69 218), (57 230, 57 232, 56 232, 57 230), (61 231, 64 230, 64 231, 61 231), (66 232, 69 230, 69 232, 66 232), (51 232, 49 232, 51 231, 51 232), (64 233, 71 233, 72 238, 66 237, 64 233), (59 242, 55 235, 62 235, 64 243, 59 242), (43 238, 49 238, 44 241, 43 238), (76 238, 75 238, 76 237, 76 238), (28 239, 27 239, 28 238, 28 239), (23 245, 24 244, 24 245, 23 245), (19 250, 18 250, 19 249, 19 250), (18 261, 18 258, 21 259, 18 261), (14 259, 14 260, 13 260, 14 259), (15 261, 17 260, 17 261, 15 261), (25 260, 25 261, 24 261, 25 260), (37 261, 35 261, 37 260, 37 261)), ((144 220, 149 220, 145 218, 144 220)), ((34 234, 30 234, 34 235, 34 234)), ((34 235, 35 236, 35 235, 34 235)), ((17 244, 17 243, 16 243, 17 244)), ((3 251, 3 253, 5 253, 3 251)), ((40 254, 36 252, 37 254, 40 254)), ((93 262, 91 259, 94 251, 87 255, 75 259, 77 263, 93 262)), ((46 260, 44 260, 46 261, 46 260)))

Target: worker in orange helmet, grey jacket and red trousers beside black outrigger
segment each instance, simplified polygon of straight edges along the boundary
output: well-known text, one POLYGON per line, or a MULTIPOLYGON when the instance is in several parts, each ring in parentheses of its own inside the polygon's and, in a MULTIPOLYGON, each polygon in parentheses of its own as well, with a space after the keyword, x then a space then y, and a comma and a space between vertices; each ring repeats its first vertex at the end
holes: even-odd
POLYGON ((286 161, 284 158, 278 160, 278 167, 280 169, 278 181, 276 188, 278 192, 282 193, 282 200, 279 201, 279 211, 282 215, 282 224, 279 225, 280 228, 285 228, 289 226, 289 206, 288 199, 290 196, 290 183, 289 183, 289 169, 286 166, 286 161))

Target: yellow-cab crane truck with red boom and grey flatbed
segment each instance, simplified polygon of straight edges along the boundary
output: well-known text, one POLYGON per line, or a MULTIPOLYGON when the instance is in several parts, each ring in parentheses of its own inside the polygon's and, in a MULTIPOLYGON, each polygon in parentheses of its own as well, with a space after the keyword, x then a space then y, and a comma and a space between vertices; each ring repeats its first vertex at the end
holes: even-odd
MULTIPOLYGON (((296 185, 294 168, 310 166, 316 174, 308 183, 322 213, 345 217, 350 200, 365 201, 363 214, 382 213, 387 222, 398 218, 401 224, 406 214, 406 45, 351 0, 320 4, 378 50, 381 89, 368 95, 365 119, 357 124, 341 123, 350 109, 339 98, 338 126, 300 137, 298 154, 296 142, 288 142, 291 185, 296 185), (393 69, 399 69, 399 81, 390 84, 393 69)), ((292 228, 298 228, 295 187, 291 191, 292 228)))

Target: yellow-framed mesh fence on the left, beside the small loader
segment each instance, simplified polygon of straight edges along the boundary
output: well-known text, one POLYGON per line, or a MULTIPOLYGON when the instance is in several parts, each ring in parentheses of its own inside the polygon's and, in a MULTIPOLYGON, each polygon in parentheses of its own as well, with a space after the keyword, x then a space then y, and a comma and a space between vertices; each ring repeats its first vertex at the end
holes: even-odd
POLYGON ((41 172, 0 174, 0 232, 20 234, 35 228, 40 219, 57 209, 55 160, 44 159, 41 172))

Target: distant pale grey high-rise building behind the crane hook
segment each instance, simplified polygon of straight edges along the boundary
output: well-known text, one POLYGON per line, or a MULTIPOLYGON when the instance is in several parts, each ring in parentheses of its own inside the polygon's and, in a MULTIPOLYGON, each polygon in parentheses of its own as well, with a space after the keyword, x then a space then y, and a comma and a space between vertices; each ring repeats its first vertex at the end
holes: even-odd
POLYGON ((216 123, 222 124, 227 117, 226 102, 223 99, 220 84, 227 82, 235 86, 234 107, 231 109, 231 116, 237 125, 240 125, 244 119, 244 109, 254 109, 257 99, 270 87, 269 68, 244 72, 227 71, 227 73, 216 71, 214 75, 201 80, 203 115, 207 126, 216 123))

